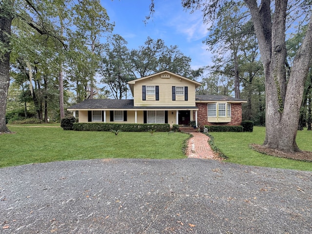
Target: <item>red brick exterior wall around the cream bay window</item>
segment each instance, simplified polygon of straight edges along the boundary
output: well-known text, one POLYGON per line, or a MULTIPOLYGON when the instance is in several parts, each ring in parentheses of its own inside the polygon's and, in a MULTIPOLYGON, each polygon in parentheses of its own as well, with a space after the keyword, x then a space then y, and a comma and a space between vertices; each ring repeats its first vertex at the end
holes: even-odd
MULTIPOLYGON (((231 122, 228 123, 210 123, 208 122, 208 111, 207 103, 196 103, 197 111, 197 121, 200 126, 203 125, 240 125, 242 122, 242 104, 232 103, 231 104, 231 122)), ((195 111, 194 119, 195 119, 195 111)))

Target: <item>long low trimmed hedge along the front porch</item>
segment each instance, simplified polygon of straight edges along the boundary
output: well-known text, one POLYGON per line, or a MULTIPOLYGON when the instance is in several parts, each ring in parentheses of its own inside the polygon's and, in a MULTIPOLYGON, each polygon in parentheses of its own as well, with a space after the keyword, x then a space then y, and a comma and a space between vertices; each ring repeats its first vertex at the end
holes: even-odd
POLYGON ((168 123, 74 123, 75 131, 105 131, 121 130, 122 132, 148 132, 156 130, 157 132, 169 132, 168 123))

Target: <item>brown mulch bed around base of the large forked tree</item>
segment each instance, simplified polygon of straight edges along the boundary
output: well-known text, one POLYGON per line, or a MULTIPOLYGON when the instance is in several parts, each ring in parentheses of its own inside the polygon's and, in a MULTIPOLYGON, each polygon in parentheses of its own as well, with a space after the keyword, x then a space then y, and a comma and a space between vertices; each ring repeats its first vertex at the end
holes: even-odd
POLYGON ((285 157, 285 158, 291 158, 294 160, 312 162, 312 152, 310 152, 310 151, 286 153, 286 152, 275 150, 275 149, 269 149, 269 148, 266 148, 266 147, 264 147, 262 145, 258 145, 258 144, 251 144, 250 146, 255 151, 258 151, 258 152, 265 154, 265 155, 271 155, 271 156, 276 156, 276 157, 285 157))

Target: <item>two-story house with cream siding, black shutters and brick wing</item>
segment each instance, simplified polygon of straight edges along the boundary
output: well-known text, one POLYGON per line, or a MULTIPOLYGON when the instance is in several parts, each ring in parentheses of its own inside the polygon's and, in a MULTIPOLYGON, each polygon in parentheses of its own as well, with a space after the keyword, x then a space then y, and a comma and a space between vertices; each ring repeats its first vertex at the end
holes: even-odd
POLYGON ((133 99, 87 99, 69 107, 79 122, 240 125, 241 99, 195 95, 201 83, 163 71, 128 82, 133 99))

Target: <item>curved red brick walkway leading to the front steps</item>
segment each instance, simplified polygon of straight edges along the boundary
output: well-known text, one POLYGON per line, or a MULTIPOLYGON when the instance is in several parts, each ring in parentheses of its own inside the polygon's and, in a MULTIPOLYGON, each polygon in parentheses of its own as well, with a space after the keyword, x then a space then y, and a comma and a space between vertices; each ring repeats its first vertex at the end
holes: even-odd
POLYGON ((188 142, 187 156, 193 158, 217 159, 208 144, 209 137, 203 133, 190 133, 193 135, 188 142))

